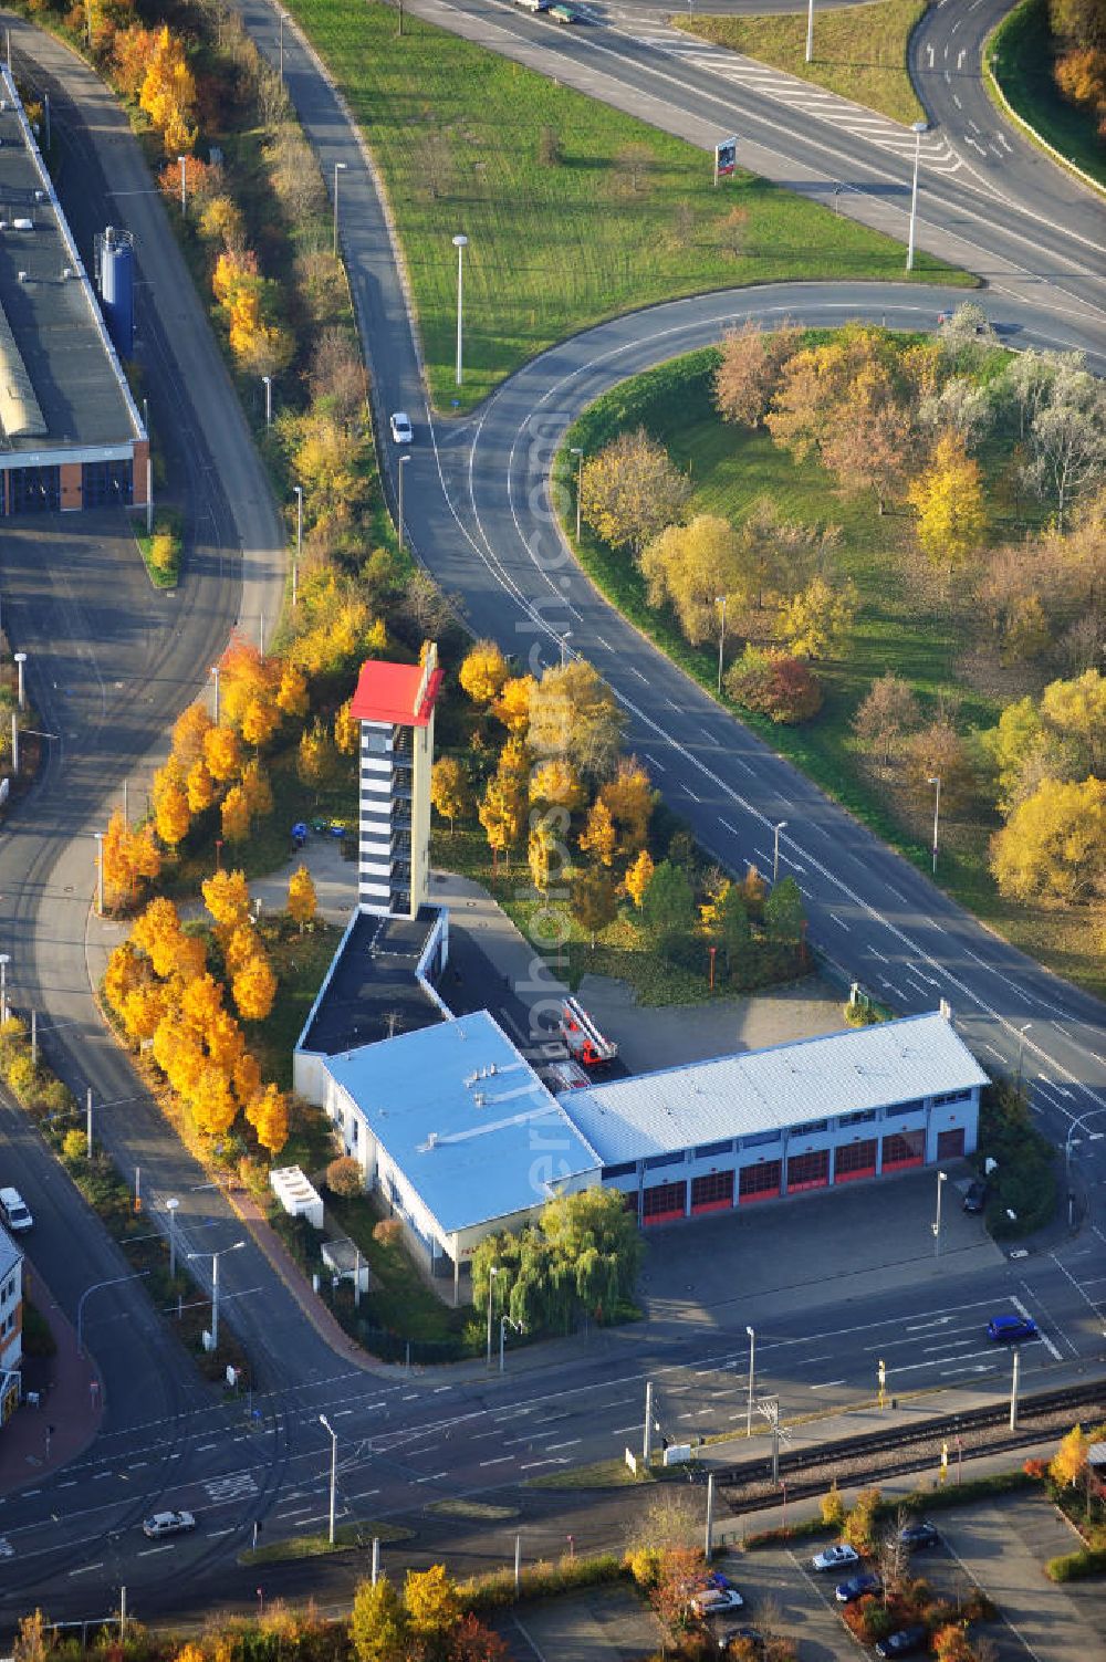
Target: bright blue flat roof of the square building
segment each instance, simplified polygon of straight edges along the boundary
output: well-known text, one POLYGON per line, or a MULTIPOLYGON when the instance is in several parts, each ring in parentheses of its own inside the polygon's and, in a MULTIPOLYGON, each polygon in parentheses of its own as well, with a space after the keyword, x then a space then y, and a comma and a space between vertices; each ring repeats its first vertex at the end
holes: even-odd
POLYGON ((600 1163, 487 1010, 326 1067, 444 1233, 541 1205, 600 1163))

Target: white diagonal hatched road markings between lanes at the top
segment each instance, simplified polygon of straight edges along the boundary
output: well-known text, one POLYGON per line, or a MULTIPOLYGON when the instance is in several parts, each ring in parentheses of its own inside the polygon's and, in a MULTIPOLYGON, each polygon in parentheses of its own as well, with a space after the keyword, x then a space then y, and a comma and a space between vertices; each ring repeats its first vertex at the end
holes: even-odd
MULTIPOLYGON (((727 52, 723 47, 710 47, 702 40, 689 40, 685 35, 637 35, 640 45, 677 58, 690 68, 718 75, 735 86, 753 91, 762 98, 773 98, 790 110, 810 116, 813 121, 825 121, 852 138, 863 140, 880 150, 891 151, 903 160, 913 160, 916 136, 908 126, 891 121, 875 110, 865 110, 838 93, 812 86, 810 81, 785 75, 765 63, 743 58, 738 52, 727 52)), ((956 173, 963 166, 963 158, 956 153, 945 133, 921 135, 921 166, 930 173, 956 173)))

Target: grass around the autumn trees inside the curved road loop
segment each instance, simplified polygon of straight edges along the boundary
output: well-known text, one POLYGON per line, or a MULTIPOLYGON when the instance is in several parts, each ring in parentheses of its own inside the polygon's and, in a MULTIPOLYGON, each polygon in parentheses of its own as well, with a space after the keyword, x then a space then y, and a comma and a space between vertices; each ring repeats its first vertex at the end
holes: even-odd
MULTIPOLYGON (((718 420, 710 396, 717 357, 715 349, 704 349, 680 364, 660 366, 624 382, 585 411, 565 435, 557 464, 567 487, 564 499, 574 502, 575 475, 565 467, 569 445, 594 455, 619 427, 644 424, 680 467, 692 470, 694 512, 740 522, 752 502, 767 494, 788 519, 842 527, 838 568, 857 583, 862 607, 843 656, 817 665, 825 685, 822 715, 803 728, 773 726, 747 711, 738 715, 773 750, 928 873, 931 804, 911 801, 896 776, 885 784, 873 781, 852 718, 870 683, 893 670, 915 688, 923 710, 933 713, 938 698, 951 695, 961 730, 993 726, 1005 700, 973 685, 963 668, 975 633, 971 613, 950 608, 940 590, 911 578, 916 555, 913 517, 906 510, 878 517, 873 500, 838 495, 817 460, 795 464, 765 432, 748 434, 718 420)), ((990 454, 985 450, 983 460, 996 512, 995 540, 1013 540, 1039 525, 1041 505, 1016 492, 1010 457, 995 445, 990 454)), ((614 553, 585 532, 579 558, 630 622, 702 686, 715 691, 717 645, 689 647, 672 612, 649 607, 645 583, 629 555, 614 553)), ((1071 907, 1005 901, 988 871, 988 843, 998 821, 986 814, 956 821, 943 813, 941 818, 941 884, 1058 974, 1099 996, 1106 992, 1106 962, 1091 919, 1071 907)))

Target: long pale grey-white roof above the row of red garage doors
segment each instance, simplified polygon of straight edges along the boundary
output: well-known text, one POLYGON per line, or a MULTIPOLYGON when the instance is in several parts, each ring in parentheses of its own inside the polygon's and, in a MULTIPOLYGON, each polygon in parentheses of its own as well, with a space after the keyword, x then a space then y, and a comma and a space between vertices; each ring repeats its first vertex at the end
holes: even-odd
POLYGON ((614 1165, 986 1084, 951 1022, 911 1015, 569 1090, 559 1102, 614 1165))

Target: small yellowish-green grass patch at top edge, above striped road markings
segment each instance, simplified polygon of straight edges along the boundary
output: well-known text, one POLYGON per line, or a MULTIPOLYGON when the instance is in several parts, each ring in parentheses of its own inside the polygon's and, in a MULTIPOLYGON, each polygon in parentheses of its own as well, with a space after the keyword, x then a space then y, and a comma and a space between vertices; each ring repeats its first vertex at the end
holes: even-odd
POLYGON ((910 126, 925 120, 925 110, 906 73, 906 42, 926 5, 928 0, 875 0, 817 12, 812 63, 807 63, 805 7, 802 15, 790 17, 674 15, 672 23, 910 126))

